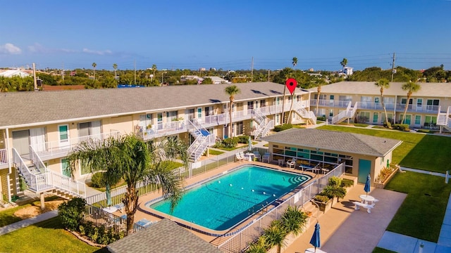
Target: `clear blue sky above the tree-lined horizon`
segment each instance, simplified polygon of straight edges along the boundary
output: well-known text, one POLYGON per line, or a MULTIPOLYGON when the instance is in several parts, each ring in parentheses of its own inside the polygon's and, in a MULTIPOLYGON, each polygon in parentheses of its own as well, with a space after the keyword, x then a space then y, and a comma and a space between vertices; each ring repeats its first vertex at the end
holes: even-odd
POLYGON ((0 67, 451 70, 451 1, 2 1, 0 67))

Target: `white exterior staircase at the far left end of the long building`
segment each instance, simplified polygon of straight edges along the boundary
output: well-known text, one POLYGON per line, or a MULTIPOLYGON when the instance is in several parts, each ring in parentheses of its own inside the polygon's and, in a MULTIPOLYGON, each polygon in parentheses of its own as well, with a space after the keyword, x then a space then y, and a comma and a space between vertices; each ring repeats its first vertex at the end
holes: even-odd
POLYGON ((21 157, 13 148, 13 164, 28 186, 28 190, 34 193, 51 191, 55 195, 64 198, 86 197, 86 185, 75 181, 68 176, 49 171, 30 146, 30 160, 21 157))

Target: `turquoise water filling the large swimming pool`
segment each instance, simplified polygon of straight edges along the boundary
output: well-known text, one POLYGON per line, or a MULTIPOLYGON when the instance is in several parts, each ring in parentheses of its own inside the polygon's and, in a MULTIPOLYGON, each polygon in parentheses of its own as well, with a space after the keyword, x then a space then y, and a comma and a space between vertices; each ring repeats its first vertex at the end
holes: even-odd
POLYGON ((149 207, 199 226, 223 231, 309 179, 311 177, 307 175, 246 166, 187 190, 172 214, 168 200, 149 207))

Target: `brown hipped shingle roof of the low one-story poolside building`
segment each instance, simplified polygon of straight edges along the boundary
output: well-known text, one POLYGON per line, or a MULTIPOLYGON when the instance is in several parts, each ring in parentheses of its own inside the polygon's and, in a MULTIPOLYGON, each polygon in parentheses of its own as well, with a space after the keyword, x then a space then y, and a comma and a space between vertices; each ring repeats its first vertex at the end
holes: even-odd
POLYGON ((390 138, 319 129, 289 129, 261 138, 288 145, 382 157, 402 143, 390 138))

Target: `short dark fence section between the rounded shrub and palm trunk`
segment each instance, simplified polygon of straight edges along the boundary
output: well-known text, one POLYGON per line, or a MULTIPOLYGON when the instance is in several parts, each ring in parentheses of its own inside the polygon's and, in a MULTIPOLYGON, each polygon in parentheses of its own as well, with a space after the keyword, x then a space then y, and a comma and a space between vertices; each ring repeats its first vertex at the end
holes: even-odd
MULTIPOLYGON (((105 231, 111 231, 115 235, 120 235, 121 233, 127 234, 127 219, 125 217, 110 214, 99 207, 86 205, 85 214, 83 215, 82 220, 91 222, 94 226, 99 228, 104 228, 105 231)), ((144 226, 133 223, 133 233, 143 228, 144 226)))

